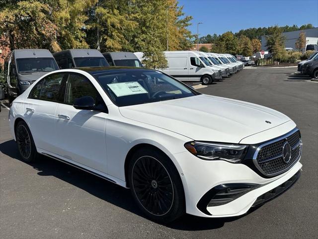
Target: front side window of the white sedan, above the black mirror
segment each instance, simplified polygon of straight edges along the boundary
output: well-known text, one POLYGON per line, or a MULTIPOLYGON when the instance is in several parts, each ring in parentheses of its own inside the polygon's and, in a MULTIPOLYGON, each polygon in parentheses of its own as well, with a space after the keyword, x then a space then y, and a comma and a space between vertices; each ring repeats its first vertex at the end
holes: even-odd
POLYGON ((83 96, 91 96, 96 101, 98 93, 86 77, 70 74, 66 84, 65 103, 73 105, 76 99, 83 96))

